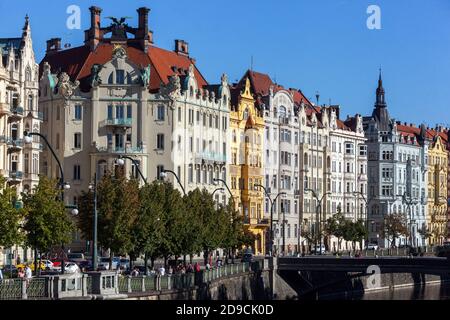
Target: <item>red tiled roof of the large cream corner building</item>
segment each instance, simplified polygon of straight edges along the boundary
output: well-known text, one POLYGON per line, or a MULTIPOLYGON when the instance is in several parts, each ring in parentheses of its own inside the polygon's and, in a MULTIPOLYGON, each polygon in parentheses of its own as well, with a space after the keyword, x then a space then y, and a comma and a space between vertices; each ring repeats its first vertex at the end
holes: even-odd
MULTIPOLYGON (((113 48, 112 44, 102 43, 93 52, 90 51, 89 46, 59 51, 44 57, 40 64, 40 71, 42 72, 43 63, 48 62, 53 73, 66 72, 72 80, 80 80, 82 90, 87 91, 89 83, 86 80, 90 76, 92 66, 110 61, 113 48)), ((124 48, 128 59, 139 67, 144 68, 150 64, 149 89, 151 91, 158 90, 161 82, 167 84, 169 77, 174 74, 185 75, 189 66, 194 64, 194 61, 187 56, 154 46, 149 48, 148 54, 133 46, 124 46, 124 48)), ((194 74, 200 88, 208 85, 197 67, 194 68, 194 74)))

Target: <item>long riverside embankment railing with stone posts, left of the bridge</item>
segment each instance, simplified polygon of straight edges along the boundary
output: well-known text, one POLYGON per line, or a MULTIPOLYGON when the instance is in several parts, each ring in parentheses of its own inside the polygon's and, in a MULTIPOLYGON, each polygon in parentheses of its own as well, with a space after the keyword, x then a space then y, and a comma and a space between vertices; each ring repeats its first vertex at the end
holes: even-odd
POLYGON ((0 300, 61 299, 88 295, 157 293, 191 289, 202 283, 251 270, 248 263, 229 264, 210 270, 172 275, 121 276, 115 272, 43 276, 0 280, 0 300))

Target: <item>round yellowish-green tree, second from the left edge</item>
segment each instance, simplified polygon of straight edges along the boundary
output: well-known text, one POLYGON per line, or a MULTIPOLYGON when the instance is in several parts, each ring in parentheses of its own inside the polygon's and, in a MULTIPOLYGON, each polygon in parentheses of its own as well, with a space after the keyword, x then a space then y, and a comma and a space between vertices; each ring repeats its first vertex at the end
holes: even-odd
MULTIPOLYGON (((23 194, 26 231, 25 244, 37 252, 71 241, 74 224, 61 201, 61 189, 55 180, 40 176, 33 193, 23 194)), ((38 268, 36 268, 37 270, 38 268)))

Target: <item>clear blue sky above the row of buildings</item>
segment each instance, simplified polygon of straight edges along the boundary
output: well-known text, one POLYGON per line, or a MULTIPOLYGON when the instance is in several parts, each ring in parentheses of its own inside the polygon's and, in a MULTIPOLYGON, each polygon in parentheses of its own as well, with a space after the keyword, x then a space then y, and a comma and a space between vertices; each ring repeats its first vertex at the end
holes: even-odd
POLYGON ((83 43, 91 5, 106 16, 151 8, 157 46, 189 42, 191 56, 210 83, 225 72, 234 81, 250 68, 321 103, 342 106, 342 116, 371 114, 378 69, 383 69, 390 113, 414 123, 449 124, 450 1, 448 0, 16 0, 0 1, 0 37, 18 36, 30 15, 40 60, 45 41, 83 43), (81 30, 66 27, 69 5, 82 9, 81 30), (381 8, 381 30, 369 30, 367 7, 381 8))

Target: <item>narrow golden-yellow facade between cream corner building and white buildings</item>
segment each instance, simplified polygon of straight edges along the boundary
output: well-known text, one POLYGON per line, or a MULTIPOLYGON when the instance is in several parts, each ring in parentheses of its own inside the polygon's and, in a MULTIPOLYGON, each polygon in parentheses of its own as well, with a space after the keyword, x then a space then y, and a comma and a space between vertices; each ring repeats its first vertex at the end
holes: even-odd
POLYGON ((245 225, 256 236, 252 247, 256 255, 264 255, 270 221, 264 219, 263 185, 264 119, 255 107, 250 80, 234 89, 234 105, 230 114, 231 191, 245 225))

